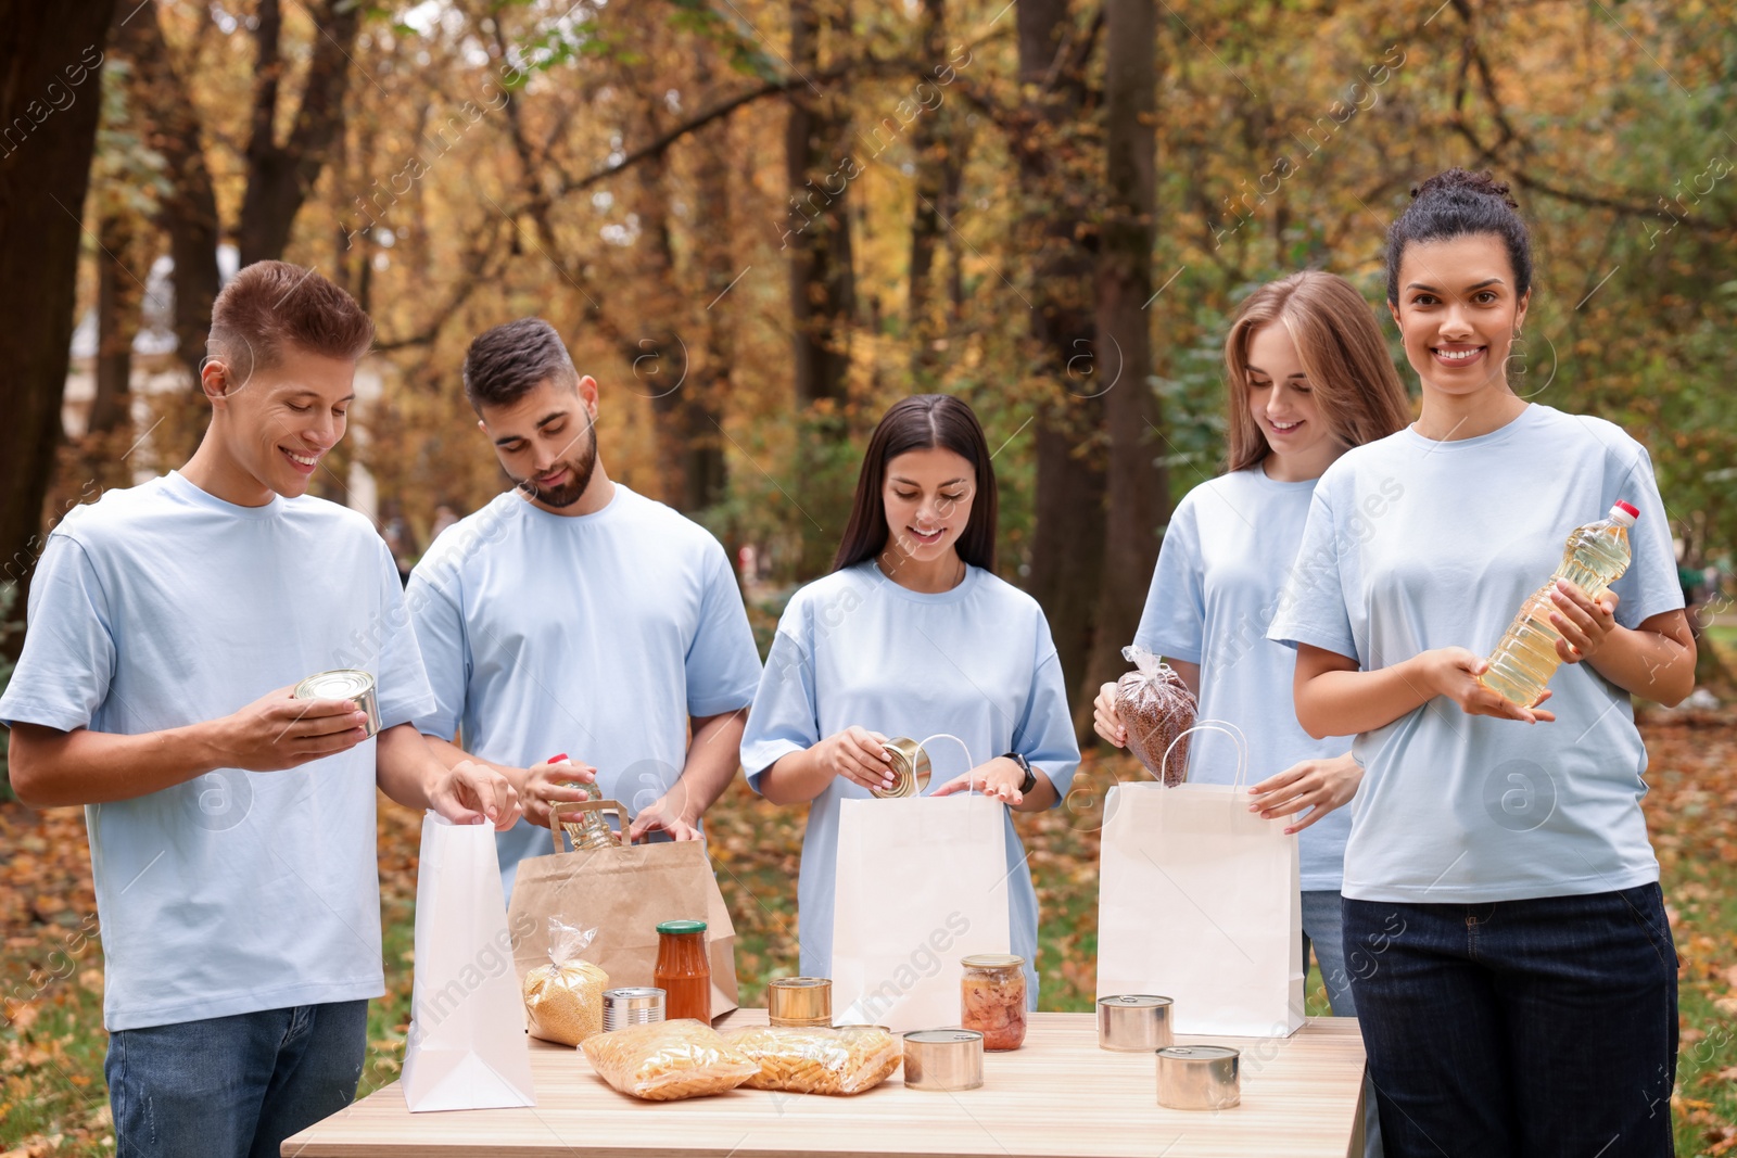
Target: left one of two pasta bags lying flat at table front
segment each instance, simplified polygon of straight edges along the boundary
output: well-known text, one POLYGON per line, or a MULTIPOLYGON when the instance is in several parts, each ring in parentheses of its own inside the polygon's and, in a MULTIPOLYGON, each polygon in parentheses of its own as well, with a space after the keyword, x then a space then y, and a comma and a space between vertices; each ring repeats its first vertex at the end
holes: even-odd
POLYGON ((691 1017, 610 1030, 580 1049, 604 1082, 653 1102, 723 1094, 759 1073, 756 1061, 691 1017))

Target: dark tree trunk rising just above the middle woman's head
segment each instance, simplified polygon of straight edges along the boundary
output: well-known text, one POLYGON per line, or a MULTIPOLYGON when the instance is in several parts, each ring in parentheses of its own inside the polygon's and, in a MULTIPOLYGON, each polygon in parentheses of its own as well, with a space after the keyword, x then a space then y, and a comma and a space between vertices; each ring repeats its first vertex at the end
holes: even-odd
MULTIPOLYGON (((815 0, 790 0, 790 63, 797 73, 820 71, 820 36, 829 24, 815 0)), ((846 196, 862 168, 844 149, 848 127, 842 97, 815 92, 806 83, 790 87, 783 142, 790 203, 780 245, 790 252, 799 406, 844 401, 849 384, 856 285, 846 196)))

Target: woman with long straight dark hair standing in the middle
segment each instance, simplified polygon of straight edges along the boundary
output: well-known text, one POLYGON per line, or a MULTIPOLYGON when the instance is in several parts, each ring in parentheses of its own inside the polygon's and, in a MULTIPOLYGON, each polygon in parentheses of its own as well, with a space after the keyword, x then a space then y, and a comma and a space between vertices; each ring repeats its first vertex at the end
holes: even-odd
MULTIPOLYGON (((1079 745, 1049 623, 994 568, 995 472, 976 415, 947 394, 896 403, 868 439, 832 575, 778 622, 742 738, 749 786, 809 806, 808 976, 832 976, 839 802, 893 785, 888 738, 964 741, 974 767, 954 745, 929 752, 931 795, 971 786, 1035 813, 1068 792, 1079 745)), ((1035 1009, 1037 894, 1011 818, 1006 844, 1011 948, 1035 1009)))

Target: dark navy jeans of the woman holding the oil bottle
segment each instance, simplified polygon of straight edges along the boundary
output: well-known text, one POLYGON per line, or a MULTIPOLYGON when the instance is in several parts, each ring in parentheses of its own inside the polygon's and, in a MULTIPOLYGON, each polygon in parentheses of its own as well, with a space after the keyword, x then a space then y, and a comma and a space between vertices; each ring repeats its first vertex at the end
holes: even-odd
POLYGON ((1395 1158, 1673 1153, 1676 950, 1657 884, 1346 899, 1344 951, 1395 1158))

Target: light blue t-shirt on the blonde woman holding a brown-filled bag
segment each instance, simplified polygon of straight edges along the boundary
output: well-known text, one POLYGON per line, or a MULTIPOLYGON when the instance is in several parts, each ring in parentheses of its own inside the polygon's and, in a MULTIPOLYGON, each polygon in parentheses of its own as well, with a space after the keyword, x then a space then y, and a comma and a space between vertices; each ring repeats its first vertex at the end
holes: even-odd
MULTIPOLYGON (((1298 724, 1291 698, 1296 656, 1266 639, 1278 592, 1308 519, 1315 479, 1278 483, 1259 464, 1188 491, 1164 531, 1134 642, 1200 665, 1200 719, 1235 724, 1247 741, 1247 781, 1256 785, 1299 760, 1344 755, 1343 736, 1315 740, 1298 724)), ((1228 785, 1237 745, 1216 731, 1188 738, 1188 778, 1228 785)), ((1337 891, 1351 814, 1337 807, 1298 840, 1304 891, 1337 891)))

